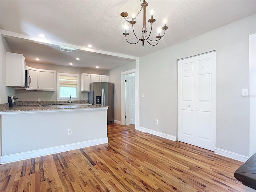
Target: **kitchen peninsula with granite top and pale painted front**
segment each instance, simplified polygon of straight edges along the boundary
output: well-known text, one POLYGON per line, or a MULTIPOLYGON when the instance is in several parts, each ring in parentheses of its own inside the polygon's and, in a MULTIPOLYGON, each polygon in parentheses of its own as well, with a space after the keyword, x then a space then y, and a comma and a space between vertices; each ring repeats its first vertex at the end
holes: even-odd
POLYGON ((1 107, 1 163, 107 143, 107 108, 79 104, 1 107))

